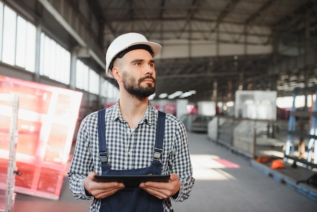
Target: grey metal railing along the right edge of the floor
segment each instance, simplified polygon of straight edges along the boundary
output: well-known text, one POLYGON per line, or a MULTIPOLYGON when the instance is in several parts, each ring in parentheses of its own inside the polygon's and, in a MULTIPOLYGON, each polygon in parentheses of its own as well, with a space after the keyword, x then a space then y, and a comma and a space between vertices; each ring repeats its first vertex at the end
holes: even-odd
POLYGON ((284 120, 260 120, 216 116, 208 125, 208 137, 255 159, 261 151, 278 147, 282 154, 286 142, 288 122, 284 120))

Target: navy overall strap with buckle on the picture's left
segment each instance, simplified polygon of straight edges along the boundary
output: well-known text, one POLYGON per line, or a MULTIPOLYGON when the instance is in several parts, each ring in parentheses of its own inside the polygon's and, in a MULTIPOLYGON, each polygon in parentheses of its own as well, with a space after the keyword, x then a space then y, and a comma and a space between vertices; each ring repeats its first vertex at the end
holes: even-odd
POLYGON ((98 111, 98 139, 99 139, 99 156, 101 165, 108 164, 109 152, 106 147, 106 132, 105 132, 105 110, 98 111))

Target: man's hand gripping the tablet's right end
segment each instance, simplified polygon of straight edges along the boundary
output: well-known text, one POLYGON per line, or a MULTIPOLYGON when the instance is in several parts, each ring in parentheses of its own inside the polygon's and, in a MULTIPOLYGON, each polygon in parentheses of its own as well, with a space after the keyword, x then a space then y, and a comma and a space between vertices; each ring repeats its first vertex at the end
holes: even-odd
POLYGON ((178 174, 173 173, 168 183, 146 182, 141 183, 139 187, 159 199, 166 199, 180 190, 180 182, 178 180, 178 174))

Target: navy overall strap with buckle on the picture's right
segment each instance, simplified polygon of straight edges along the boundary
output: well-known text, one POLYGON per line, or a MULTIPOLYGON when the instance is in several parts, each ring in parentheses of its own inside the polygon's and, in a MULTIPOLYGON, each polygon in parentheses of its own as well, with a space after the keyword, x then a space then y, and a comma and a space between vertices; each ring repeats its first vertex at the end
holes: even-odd
POLYGON ((156 124, 156 136, 155 136, 155 147, 153 160, 162 162, 163 153, 163 138, 165 131, 165 116, 166 114, 159 111, 159 118, 157 118, 156 124))

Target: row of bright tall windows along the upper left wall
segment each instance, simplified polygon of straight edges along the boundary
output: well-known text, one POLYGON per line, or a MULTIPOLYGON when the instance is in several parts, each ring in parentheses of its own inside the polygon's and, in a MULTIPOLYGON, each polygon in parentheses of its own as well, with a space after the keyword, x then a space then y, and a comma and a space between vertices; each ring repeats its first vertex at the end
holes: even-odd
MULTIPOLYGON (((0 62, 35 73, 36 49, 39 49, 39 75, 69 85, 70 52, 44 32, 36 48, 36 30, 34 24, 0 0, 0 62)), ((115 86, 80 59, 76 61, 75 87, 105 98, 118 96, 115 86)))

